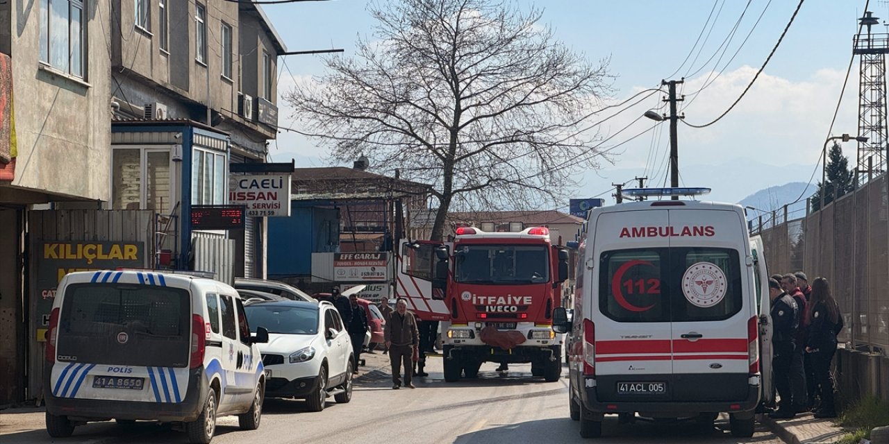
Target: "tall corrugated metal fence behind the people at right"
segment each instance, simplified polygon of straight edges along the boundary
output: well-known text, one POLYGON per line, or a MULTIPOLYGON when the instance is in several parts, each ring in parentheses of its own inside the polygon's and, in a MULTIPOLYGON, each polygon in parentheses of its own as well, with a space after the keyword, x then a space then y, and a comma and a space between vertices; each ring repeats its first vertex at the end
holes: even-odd
MULTIPOLYGON (((761 230, 769 274, 822 276, 843 311, 841 340, 889 352, 889 180, 871 180, 823 210, 761 230)), ((757 230, 754 230, 755 234, 757 230)))

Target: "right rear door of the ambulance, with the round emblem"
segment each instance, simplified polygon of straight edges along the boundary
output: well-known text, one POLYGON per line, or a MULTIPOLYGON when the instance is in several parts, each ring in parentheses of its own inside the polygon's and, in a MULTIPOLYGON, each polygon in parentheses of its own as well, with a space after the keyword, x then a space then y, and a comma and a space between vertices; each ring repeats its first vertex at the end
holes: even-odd
MULTIPOLYGON (((749 393, 746 225, 732 210, 669 210, 673 400, 744 400, 749 393)), ((754 345, 756 346, 756 345, 754 345)))

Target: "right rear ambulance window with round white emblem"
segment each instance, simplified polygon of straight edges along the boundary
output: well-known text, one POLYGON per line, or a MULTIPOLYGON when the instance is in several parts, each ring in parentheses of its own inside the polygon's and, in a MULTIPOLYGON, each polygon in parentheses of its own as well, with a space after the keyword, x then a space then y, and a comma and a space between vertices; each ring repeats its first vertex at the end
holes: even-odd
POLYGON ((677 248, 670 251, 673 321, 722 321, 741 311, 741 262, 737 250, 677 248))

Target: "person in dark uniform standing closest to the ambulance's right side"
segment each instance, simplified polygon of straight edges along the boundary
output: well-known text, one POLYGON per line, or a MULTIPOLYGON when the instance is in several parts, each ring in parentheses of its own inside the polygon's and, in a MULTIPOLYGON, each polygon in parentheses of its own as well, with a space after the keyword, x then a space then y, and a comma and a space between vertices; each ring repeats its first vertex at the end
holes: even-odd
POLYGON ((769 416, 773 418, 792 418, 796 416, 794 392, 790 388, 790 363, 794 355, 794 337, 799 323, 797 301, 785 291, 774 279, 769 280, 769 298, 772 299, 772 370, 775 389, 781 396, 778 410, 769 416))

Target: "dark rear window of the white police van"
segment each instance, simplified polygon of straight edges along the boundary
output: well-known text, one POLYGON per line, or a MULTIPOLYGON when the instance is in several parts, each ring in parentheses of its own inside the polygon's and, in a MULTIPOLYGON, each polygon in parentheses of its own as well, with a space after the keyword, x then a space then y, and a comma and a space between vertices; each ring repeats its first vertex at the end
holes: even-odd
POLYGON ((190 318, 185 289, 74 284, 61 306, 59 354, 95 364, 185 367, 190 318))

